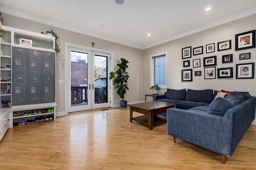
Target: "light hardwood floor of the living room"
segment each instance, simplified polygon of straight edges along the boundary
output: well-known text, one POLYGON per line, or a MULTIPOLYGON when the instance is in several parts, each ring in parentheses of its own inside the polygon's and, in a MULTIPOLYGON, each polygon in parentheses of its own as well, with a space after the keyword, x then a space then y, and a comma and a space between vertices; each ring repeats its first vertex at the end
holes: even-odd
POLYGON ((219 154, 181 139, 174 143, 166 123, 150 131, 129 117, 128 107, 14 126, 0 142, 0 170, 256 169, 256 125, 222 164, 219 154))

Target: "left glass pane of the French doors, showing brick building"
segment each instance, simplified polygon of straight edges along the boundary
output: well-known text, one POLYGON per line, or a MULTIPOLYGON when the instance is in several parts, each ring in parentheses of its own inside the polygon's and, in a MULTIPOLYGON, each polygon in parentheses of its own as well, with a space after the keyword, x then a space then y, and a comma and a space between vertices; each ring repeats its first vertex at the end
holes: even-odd
POLYGON ((88 105, 88 54, 71 51, 71 107, 88 105))

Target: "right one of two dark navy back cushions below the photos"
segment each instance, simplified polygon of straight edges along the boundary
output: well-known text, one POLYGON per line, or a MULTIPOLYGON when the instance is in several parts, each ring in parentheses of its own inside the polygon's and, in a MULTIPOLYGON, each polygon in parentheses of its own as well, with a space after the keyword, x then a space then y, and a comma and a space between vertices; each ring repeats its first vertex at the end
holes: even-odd
POLYGON ((213 90, 187 90, 186 100, 194 101, 194 102, 212 102, 213 90))

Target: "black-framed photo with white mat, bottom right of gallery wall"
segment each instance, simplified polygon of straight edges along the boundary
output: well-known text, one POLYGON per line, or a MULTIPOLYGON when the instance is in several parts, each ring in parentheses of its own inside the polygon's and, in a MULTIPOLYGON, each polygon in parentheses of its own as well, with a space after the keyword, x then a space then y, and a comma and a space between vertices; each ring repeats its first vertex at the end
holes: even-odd
POLYGON ((254 63, 236 64, 236 78, 254 78, 254 63))

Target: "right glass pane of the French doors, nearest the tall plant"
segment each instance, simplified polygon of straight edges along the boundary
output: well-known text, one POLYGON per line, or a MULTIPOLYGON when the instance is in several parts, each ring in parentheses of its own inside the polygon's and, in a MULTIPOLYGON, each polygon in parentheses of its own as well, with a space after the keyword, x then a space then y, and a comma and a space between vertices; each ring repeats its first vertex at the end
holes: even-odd
POLYGON ((108 57, 94 55, 94 97, 95 104, 108 102, 108 57))

